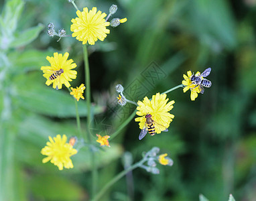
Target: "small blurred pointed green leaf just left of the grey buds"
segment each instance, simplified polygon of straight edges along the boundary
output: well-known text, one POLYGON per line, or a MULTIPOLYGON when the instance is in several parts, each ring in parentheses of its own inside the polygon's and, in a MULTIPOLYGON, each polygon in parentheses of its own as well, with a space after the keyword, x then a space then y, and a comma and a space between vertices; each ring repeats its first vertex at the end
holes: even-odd
POLYGON ((11 42, 11 48, 18 48, 20 46, 25 46, 38 38, 38 35, 44 28, 44 25, 38 24, 36 27, 31 27, 25 31, 15 34, 15 39, 11 42))

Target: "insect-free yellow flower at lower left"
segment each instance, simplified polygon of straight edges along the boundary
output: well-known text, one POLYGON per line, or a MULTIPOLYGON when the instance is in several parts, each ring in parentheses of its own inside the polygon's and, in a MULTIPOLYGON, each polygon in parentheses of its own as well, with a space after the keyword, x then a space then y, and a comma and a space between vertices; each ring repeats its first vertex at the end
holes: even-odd
POLYGON ((59 170, 63 170, 63 166, 67 169, 73 168, 74 166, 70 156, 76 154, 77 151, 72 148, 72 145, 66 143, 66 135, 63 135, 63 137, 57 135, 54 139, 49 136, 49 140, 50 142, 48 141, 46 146, 41 150, 42 155, 47 155, 43 159, 43 163, 51 161, 51 163, 58 166, 59 170))

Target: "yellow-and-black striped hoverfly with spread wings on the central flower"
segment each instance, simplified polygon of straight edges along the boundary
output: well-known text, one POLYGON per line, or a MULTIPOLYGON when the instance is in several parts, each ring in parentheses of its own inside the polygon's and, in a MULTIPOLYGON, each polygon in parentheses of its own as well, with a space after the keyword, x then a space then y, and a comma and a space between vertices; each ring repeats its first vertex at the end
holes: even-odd
POLYGON ((155 135, 155 126, 157 127, 162 127, 164 129, 164 131, 168 131, 168 129, 166 129, 166 127, 164 127, 163 125, 159 125, 158 123, 156 123, 155 121, 153 121, 152 119, 152 115, 147 114, 145 115, 145 125, 143 127, 143 129, 141 130, 141 133, 139 133, 139 140, 141 140, 143 137, 145 137, 145 135, 147 134, 147 131, 149 132, 150 135, 155 135))

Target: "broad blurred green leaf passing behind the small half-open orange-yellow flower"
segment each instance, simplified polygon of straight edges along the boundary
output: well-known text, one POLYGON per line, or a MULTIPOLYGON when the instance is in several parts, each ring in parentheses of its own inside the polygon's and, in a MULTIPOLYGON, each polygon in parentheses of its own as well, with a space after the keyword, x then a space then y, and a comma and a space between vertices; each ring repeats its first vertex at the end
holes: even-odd
MULTIPOLYGON (((76 117, 76 101, 69 92, 56 90, 52 86, 46 86, 46 80, 39 72, 21 75, 15 80, 17 94, 15 102, 20 107, 29 111, 50 115, 54 117, 76 117)), ((80 117, 86 117, 87 107, 84 100, 78 102, 80 117)), ((101 106, 92 106, 92 113, 103 113, 101 106)))

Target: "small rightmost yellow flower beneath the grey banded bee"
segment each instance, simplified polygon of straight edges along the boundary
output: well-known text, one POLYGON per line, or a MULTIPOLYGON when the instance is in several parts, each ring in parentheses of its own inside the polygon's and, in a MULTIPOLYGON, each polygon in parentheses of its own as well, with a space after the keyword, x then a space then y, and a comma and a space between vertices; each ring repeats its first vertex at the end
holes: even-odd
MULTIPOLYGON (((199 73, 200 72, 196 72, 196 75, 198 75, 199 73)), ((186 92, 190 89, 190 98, 191 100, 195 100, 198 96, 198 93, 200 93, 200 89, 199 86, 197 86, 196 84, 192 84, 192 81, 190 80, 190 77, 192 76, 191 70, 188 71, 187 74, 188 76, 186 76, 186 74, 183 74, 184 80, 182 80, 182 84, 185 85, 185 87, 183 88, 183 92, 186 92)))

